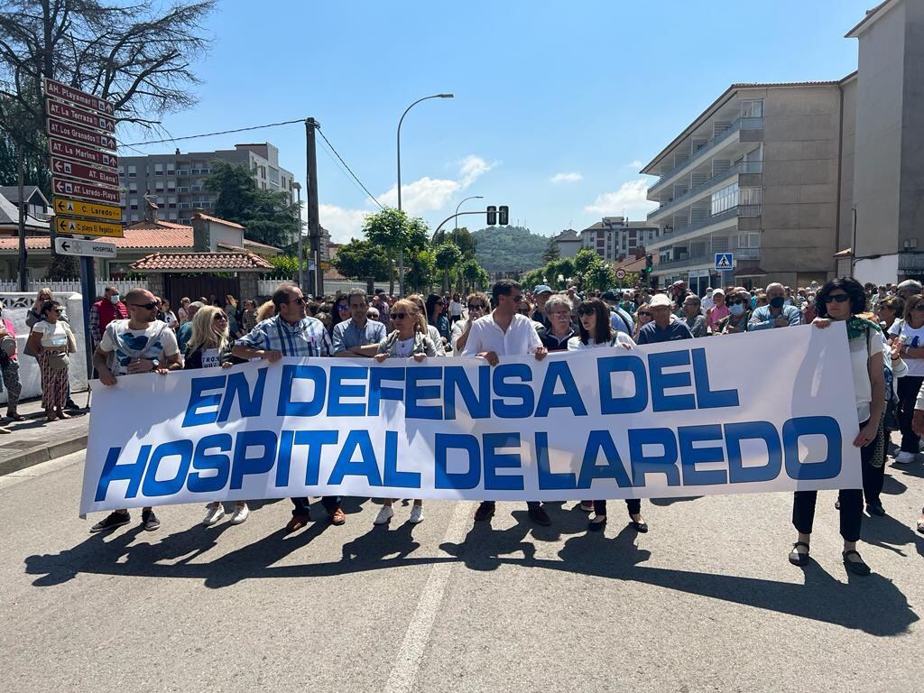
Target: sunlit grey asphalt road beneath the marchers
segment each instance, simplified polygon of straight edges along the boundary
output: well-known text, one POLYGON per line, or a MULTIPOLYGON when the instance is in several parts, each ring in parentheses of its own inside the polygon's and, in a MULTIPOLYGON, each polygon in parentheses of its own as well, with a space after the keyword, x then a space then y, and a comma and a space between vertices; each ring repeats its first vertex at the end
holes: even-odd
POLYGON ((102 536, 77 517, 82 462, 0 478, 11 693, 924 690, 920 462, 890 468, 859 547, 874 575, 849 579, 833 492, 800 569, 786 494, 644 502, 646 535, 618 502, 601 536, 576 504, 547 505, 551 528, 515 504, 473 528, 475 504, 445 502, 373 528, 364 500, 287 538, 285 501, 102 536))

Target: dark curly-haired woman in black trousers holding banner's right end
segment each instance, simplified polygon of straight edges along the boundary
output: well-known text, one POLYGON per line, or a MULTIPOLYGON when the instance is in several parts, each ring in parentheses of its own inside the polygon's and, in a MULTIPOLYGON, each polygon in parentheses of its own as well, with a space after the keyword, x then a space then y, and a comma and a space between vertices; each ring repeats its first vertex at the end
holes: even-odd
MULTIPOLYGON (((872 463, 882 435, 882 413, 885 410, 881 329, 875 322, 858 317, 866 310, 866 293, 863 286, 851 277, 833 279, 822 286, 815 297, 815 310, 819 317, 812 324, 818 328, 826 328, 832 321, 846 322, 859 421, 854 445, 860 449, 863 476, 868 477, 878 471, 872 463)), ((789 553, 789 562, 793 565, 808 565, 808 541, 811 539, 817 499, 817 491, 796 491, 793 498, 793 526, 798 532, 796 543, 789 553)), ((863 490, 842 489, 838 492, 838 505, 845 568, 854 575, 869 575, 869 565, 857 553, 863 522, 863 490)))

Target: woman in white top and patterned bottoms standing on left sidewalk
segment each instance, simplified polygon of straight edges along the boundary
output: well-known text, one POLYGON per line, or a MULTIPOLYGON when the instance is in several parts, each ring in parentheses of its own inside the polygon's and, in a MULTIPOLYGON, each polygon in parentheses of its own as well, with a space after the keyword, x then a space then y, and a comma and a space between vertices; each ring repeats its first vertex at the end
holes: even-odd
POLYGON ((77 351, 77 342, 70 326, 61 320, 61 304, 45 301, 40 309, 42 320, 32 325, 28 349, 38 354, 42 371, 42 407, 49 421, 70 419, 67 406, 67 354, 77 351))

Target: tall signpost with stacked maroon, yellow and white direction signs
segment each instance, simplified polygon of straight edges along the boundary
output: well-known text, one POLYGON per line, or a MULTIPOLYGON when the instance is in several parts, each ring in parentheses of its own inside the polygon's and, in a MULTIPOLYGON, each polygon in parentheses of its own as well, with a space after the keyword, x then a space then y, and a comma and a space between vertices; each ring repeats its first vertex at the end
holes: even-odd
POLYGON ((92 258, 112 260, 116 257, 116 244, 56 237, 55 233, 123 236, 122 211, 118 207, 118 158, 109 153, 116 151, 116 138, 112 137, 116 132, 116 104, 55 79, 45 78, 43 85, 52 190, 55 193, 52 237, 56 253, 80 258, 84 343, 87 374, 91 376, 93 340, 90 334, 90 304, 96 298, 92 258), (89 219, 60 216, 62 213, 89 219))

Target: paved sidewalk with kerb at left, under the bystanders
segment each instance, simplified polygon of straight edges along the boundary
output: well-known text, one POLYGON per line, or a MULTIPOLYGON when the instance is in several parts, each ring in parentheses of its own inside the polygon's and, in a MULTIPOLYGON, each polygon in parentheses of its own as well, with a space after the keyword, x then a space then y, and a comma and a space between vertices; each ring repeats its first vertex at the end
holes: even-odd
MULTIPOLYGON (((75 392, 74 401, 87 404, 87 392, 75 392)), ((12 433, 0 434, 0 476, 68 455, 87 446, 90 409, 68 411, 72 419, 45 420, 41 399, 19 402, 18 412, 25 421, 0 421, 12 433)), ((0 408, 6 413, 6 406, 0 408)))

